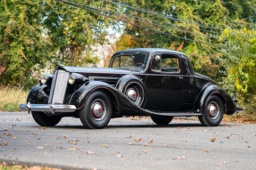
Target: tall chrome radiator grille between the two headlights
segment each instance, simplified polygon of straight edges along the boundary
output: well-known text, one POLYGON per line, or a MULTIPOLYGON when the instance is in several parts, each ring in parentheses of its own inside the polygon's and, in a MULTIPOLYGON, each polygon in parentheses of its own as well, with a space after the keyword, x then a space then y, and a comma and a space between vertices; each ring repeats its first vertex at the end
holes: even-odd
POLYGON ((49 95, 49 104, 62 104, 66 94, 70 73, 64 70, 54 72, 53 82, 49 95))

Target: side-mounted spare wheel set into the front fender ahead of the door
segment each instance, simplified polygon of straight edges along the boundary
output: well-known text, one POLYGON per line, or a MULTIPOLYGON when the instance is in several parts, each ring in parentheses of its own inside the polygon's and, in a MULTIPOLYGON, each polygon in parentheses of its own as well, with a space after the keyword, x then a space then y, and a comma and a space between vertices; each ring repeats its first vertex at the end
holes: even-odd
POLYGON ((121 93, 127 95, 131 101, 135 102, 136 105, 140 107, 145 106, 145 85, 138 77, 129 75, 121 77, 119 82, 117 83, 117 88, 120 90, 121 93), (136 94, 135 98, 132 98, 132 95, 128 95, 128 92, 130 91, 133 91, 136 94))

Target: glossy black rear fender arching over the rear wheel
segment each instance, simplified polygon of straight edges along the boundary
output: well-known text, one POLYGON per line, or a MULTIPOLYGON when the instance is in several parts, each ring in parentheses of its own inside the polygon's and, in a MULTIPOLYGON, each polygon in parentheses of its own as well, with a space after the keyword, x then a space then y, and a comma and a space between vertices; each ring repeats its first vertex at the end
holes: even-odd
POLYGON ((202 87, 202 92, 199 93, 195 101, 194 110, 199 109, 200 112, 203 113, 205 108, 205 102, 213 94, 218 95, 219 98, 223 101, 227 115, 235 113, 235 102, 232 100, 231 96, 218 85, 213 84, 206 84, 202 87))

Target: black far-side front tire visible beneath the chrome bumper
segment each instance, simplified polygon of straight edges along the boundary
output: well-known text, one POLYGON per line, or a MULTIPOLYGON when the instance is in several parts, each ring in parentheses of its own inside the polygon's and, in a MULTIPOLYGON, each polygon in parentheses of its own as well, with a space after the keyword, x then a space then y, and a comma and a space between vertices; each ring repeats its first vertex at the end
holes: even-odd
POLYGON ((32 111, 32 117, 37 122, 38 125, 42 126, 54 126, 57 125, 61 120, 62 117, 58 116, 47 116, 43 112, 39 111, 32 111))

